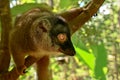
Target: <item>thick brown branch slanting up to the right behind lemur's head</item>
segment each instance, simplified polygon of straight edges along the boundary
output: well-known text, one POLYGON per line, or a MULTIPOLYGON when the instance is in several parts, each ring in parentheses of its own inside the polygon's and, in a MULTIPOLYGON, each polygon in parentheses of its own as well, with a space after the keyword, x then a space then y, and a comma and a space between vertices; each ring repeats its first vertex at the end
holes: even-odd
POLYGON ((105 0, 90 1, 85 7, 75 8, 59 14, 70 24, 72 33, 85 24, 100 8, 105 0))

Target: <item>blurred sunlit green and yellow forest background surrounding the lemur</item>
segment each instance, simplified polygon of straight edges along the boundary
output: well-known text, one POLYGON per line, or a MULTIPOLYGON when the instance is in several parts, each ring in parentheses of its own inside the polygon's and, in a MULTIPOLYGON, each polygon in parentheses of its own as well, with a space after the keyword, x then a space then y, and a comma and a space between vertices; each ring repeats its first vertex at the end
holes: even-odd
MULTIPOLYGON (((85 6, 89 0, 10 0, 11 15, 43 6, 55 13, 85 6), (42 3, 42 4, 41 4, 42 3), (48 4, 49 6, 47 6, 48 4)), ((120 0, 105 0, 75 34, 76 56, 51 57, 51 80, 120 80, 120 0)), ((1 31, 1 29, 0 29, 1 31)), ((10 70, 14 62, 11 62, 10 70)), ((20 80, 36 80, 35 65, 20 80)))

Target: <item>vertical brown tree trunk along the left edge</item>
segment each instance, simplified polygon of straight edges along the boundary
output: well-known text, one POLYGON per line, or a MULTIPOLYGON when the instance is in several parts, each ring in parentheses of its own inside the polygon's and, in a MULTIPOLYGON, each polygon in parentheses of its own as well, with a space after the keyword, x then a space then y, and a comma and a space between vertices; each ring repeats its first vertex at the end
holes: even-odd
POLYGON ((0 20, 1 20, 1 43, 0 43, 0 73, 8 71, 10 54, 8 51, 9 32, 11 29, 11 16, 9 0, 0 0, 0 20))

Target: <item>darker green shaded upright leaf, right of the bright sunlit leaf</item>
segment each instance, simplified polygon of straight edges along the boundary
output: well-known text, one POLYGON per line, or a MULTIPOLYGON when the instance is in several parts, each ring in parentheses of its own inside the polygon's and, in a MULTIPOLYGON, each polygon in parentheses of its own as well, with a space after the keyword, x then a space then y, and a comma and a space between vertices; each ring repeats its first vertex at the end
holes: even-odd
POLYGON ((94 74, 98 80, 106 80, 104 68, 107 67, 107 52, 103 44, 92 46, 96 56, 94 74))

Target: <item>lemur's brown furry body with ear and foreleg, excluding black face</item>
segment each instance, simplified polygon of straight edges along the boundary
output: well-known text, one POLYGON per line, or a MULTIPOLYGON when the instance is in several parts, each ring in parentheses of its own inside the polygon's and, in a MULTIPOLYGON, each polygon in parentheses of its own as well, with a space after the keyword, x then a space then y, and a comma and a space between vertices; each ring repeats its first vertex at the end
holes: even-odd
POLYGON ((58 52, 58 47, 51 48, 52 44, 48 33, 51 25, 48 20, 44 19, 45 16, 52 15, 46 10, 42 10, 41 13, 41 10, 36 8, 16 19, 15 27, 10 34, 9 46, 19 69, 18 73, 23 74, 22 72, 26 68, 24 65, 26 55, 34 56, 37 61, 43 56, 58 52))

